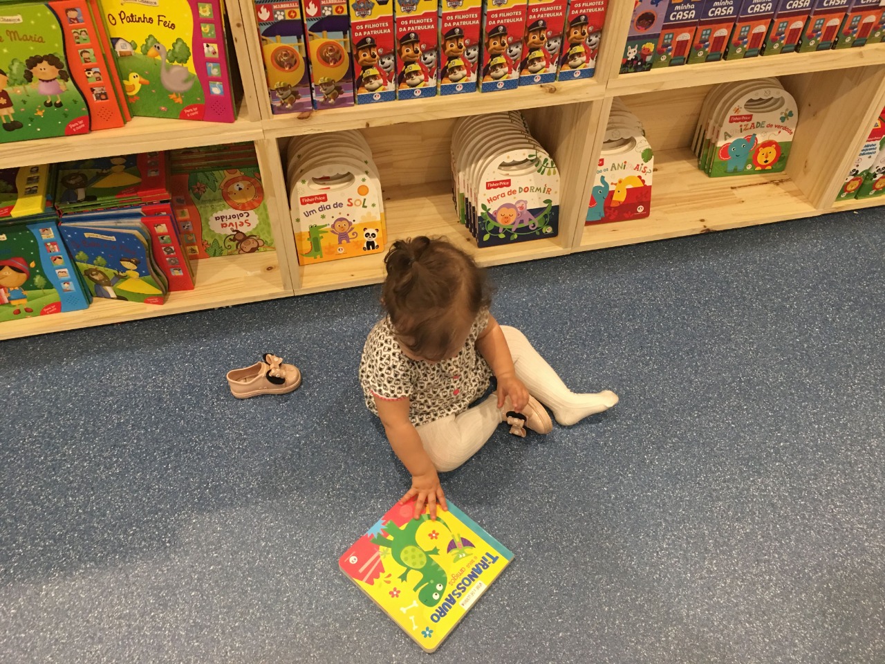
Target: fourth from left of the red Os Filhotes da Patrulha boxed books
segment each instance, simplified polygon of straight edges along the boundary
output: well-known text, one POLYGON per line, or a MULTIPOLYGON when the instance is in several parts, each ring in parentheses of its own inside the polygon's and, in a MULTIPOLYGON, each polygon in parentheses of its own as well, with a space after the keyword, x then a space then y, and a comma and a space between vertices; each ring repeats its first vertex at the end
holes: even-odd
POLYGON ((522 37, 526 30, 525 0, 485 0, 482 27, 481 92, 519 87, 522 37))

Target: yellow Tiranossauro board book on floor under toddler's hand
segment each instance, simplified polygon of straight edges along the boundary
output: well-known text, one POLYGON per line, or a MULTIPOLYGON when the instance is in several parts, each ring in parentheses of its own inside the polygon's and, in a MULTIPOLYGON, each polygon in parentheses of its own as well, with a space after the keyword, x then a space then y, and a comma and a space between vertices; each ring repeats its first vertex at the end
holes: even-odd
POLYGON ((447 501, 436 520, 397 503, 338 560, 342 572, 426 652, 435 652, 513 560, 447 501))

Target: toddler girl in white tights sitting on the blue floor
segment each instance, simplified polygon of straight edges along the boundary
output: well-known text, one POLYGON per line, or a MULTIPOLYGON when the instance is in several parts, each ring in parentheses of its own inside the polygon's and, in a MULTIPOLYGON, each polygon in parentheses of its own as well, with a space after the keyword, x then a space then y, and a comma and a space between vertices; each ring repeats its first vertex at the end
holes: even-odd
POLYGON ((506 421, 539 434, 618 403, 611 390, 575 394, 516 328, 489 314, 489 288, 473 259, 442 239, 398 240, 384 259, 388 315, 369 333, 359 365, 366 406, 381 418, 396 456, 412 474, 415 517, 445 494, 438 471, 454 470, 506 421), (489 389, 496 392, 469 407, 489 389))

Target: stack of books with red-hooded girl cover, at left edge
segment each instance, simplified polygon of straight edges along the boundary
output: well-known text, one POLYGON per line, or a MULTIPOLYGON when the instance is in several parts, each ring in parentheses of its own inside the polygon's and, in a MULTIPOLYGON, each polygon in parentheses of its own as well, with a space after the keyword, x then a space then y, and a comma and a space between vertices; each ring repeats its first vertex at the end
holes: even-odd
POLYGON ((89 306, 58 233, 50 166, 0 170, 0 322, 89 306))

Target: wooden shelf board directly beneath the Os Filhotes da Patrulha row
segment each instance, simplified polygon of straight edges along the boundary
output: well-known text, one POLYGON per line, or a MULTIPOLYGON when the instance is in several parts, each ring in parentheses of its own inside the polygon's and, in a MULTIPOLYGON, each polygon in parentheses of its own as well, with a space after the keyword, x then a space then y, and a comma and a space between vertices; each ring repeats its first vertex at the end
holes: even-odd
MULTIPOLYGON (((577 104, 602 99, 605 84, 596 79, 558 81, 503 92, 451 95, 350 106, 312 112, 307 117, 277 115, 264 120, 269 138, 302 134, 322 134, 342 129, 383 127, 424 120, 444 120, 489 112, 515 111, 538 106, 577 104)), ((302 114, 304 115, 304 114, 302 114)))

